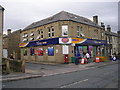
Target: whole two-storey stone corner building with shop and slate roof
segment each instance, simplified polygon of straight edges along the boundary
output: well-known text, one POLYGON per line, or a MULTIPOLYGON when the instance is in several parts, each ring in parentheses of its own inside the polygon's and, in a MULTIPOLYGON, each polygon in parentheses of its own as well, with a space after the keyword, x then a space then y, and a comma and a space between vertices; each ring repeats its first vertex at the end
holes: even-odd
POLYGON ((71 57, 105 55, 105 29, 93 21, 66 11, 34 22, 21 32, 21 58, 40 62, 64 63, 71 57))

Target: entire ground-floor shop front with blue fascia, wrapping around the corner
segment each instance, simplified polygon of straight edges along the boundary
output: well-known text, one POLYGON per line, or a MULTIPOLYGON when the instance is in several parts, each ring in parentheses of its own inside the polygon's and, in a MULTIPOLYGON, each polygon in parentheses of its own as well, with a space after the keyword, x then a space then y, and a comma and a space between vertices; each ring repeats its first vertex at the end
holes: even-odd
POLYGON ((59 37, 45 40, 20 43, 21 59, 28 61, 64 63, 71 62, 71 57, 78 54, 84 57, 89 52, 91 57, 105 55, 106 42, 104 40, 59 37))

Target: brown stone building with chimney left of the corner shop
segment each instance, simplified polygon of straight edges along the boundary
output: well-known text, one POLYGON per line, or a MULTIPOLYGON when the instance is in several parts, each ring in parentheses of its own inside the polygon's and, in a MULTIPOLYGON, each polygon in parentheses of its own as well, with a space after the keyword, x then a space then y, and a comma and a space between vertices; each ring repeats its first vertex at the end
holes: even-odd
POLYGON ((13 54, 16 59, 20 59, 19 43, 21 30, 11 32, 11 29, 8 29, 7 33, 8 34, 3 37, 3 49, 7 50, 8 58, 10 54, 13 54))

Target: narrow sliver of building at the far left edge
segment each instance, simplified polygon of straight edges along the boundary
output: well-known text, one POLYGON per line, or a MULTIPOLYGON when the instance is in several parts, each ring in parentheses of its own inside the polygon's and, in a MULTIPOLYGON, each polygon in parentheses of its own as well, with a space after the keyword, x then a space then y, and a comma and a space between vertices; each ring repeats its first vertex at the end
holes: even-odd
POLYGON ((4 8, 0 5, 0 61, 2 60, 3 21, 4 21, 4 8))

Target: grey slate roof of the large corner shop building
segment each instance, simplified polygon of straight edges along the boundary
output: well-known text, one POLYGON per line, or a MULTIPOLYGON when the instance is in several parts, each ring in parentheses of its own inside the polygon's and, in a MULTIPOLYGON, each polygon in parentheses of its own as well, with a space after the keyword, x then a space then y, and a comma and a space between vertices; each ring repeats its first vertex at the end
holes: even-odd
POLYGON ((93 23, 91 20, 85 18, 85 17, 81 17, 66 11, 61 11, 49 18, 43 19, 41 21, 38 22, 34 22, 31 25, 27 26, 26 28, 24 28, 23 30, 28 30, 28 29, 32 29, 35 27, 39 27, 45 24, 49 24, 49 23, 53 23, 56 21, 74 21, 74 22, 78 22, 78 23, 83 23, 83 24, 87 24, 87 25, 91 25, 94 27, 99 27, 99 25, 93 23))

